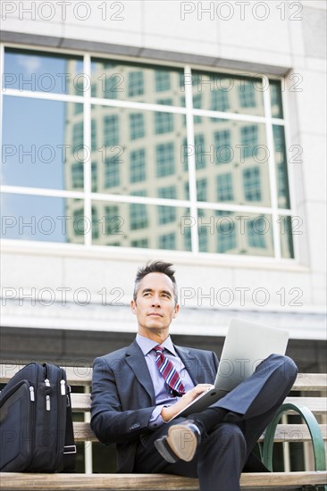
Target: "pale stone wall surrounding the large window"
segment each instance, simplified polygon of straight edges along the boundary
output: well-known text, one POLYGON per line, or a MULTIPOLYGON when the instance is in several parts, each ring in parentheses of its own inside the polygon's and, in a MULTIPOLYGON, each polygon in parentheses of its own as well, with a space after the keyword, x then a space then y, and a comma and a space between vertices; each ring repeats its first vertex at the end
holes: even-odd
POLYGON ((288 327, 291 337, 324 338, 325 3, 132 0, 106 2, 106 12, 96 1, 68 3, 66 12, 59 2, 49 4, 3 2, 2 40, 285 76, 288 147, 295 146, 289 157, 300 219, 298 260, 4 243, 2 283, 12 288, 5 291, 4 325, 132 331, 127 305, 135 272, 148 259, 160 258, 177 270, 184 304, 173 328, 178 333, 221 336, 230 317, 242 315, 288 327), (35 304, 28 297, 18 302, 20 288, 21 293, 35 288, 35 304), (106 306, 98 293, 103 288, 106 306))

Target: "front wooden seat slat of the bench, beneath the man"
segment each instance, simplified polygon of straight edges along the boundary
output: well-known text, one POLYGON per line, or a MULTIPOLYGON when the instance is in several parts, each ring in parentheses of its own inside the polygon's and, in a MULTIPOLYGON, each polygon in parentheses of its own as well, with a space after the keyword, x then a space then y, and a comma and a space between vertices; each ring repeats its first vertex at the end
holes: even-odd
MULTIPOLYGON (((115 490, 142 489, 157 491, 198 490, 198 480, 183 478, 169 474, 21 474, 0 473, 0 482, 3 489, 11 491, 25 490, 61 490, 69 491, 89 490, 115 490)), ((326 472, 272 472, 269 479, 264 473, 242 474, 241 487, 292 487, 302 485, 318 485, 327 482, 326 472)))

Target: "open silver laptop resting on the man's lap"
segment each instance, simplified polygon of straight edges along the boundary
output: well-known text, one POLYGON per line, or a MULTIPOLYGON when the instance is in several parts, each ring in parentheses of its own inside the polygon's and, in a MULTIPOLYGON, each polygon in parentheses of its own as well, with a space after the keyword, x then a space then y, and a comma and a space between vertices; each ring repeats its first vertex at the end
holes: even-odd
POLYGON ((231 319, 214 387, 199 395, 172 420, 201 412, 214 404, 250 377, 257 365, 270 354, 285 354, 288 340, 289 332, 286 330, 269 328, 249 320, 231 319))

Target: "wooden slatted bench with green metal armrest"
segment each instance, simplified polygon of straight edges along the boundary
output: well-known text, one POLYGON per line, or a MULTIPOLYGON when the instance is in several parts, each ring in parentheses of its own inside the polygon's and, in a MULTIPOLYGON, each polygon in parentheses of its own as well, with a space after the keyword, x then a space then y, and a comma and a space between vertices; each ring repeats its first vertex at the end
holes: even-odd
MULTIPOLYGON (((6 383, 20 370, 21 366, 0 365, 0 383, 6 383)), ((65 367, 67 379, 72 388, 71 405, 73 412, 83 412, 89 420, 92 370, 89 367, 65 367), (84 392, 74 392, 77 386, 84 392)), ((315 470, 243 473, 240 479, 244 489, 303 488, 324 489, 327 491, 327 473, 324 442, 326 431, 326 380, 325 374, 300 373, 292 391, 305 392, 301 396, 289 396, 275 420, 260 438, 263 446, 263 461, 272 469, 272 445, 274 442, 310 442, 314 445, 315 470), (309 393, 309 395, 307 395, 309 393), (281 414, 298 412, 303 416, 299 424, 280 423, 281 414), (315 417, 320 420, 317 422, 315 417), (305 422, 306 421, 306 422, 305 422)), ((89 422, 74 422, 76 442, 96 442, 89 422)), ((158 474, 37 474, 37 473, 0 473, 0 489, 3 490, 198 490, 198 480, 172 475, 158 474)), ((211 490, 208 490, 211 491, 211 490)), ((213 490, 214 491, 214 490, 213 490)))

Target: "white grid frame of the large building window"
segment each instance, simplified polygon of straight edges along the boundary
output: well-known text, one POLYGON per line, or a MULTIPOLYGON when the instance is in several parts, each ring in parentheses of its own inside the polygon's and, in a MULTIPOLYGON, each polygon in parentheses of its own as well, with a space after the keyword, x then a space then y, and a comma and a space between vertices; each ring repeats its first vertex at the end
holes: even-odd
MULTIPOLYGON (((107 58, 109 60, 115 60, 115 61, 124 61, 124 62, 136 62, 134 58, 130 58, 128 56, 117 56, 117 55, 112 55, 112 54, 98 54, 96 52, 94 53, 83 53, 78 50, 67 50, 67 49, 53 49, 53 48, 46 48, 43 46, 28 46, 28 45, 22 45, 22 46, 17 46, 17 45, 12 45, 10 43, 4 43, 1 44, 0 50, 1 50, 1 59, 2 61, 2 66, 1 66, 1 75, 4 72, 4 48, 15 48, 15 49, 21 49, 22 51, 24 50, 29 50, 29 51, 35 51, 35 52, 42 52, 42 53, 48 53, 48 54, 64 54, 64 55, 80 55, 83 58, 83 72, 86 74, 86 76, 91 78, 91 59, 92 58, 101 58, 104 59, 107 58)), ((162 66, 163 69, 166 68, 169 70, 170 68, 177 68, 177 69, 184 69, 184 75, 185 77, 189 77, 191 75, 191 68, 189 65, 182 64, 182 63, 177 63, 177 62, 163 62, 160 60, 147 60, 147 59, 138 59, 137 62, 141 63, 147 63, 148 65, 154 65, 154 66, 162 66)), ((217 73, 226 73, 230 75, 247 75, 249 77, 254 77, 258 76, 257 74, 254 73, 244 73, 244 71, 235 71, 235 70, 223 70, 220 68, 216 67, 204 67, 204 66, 198 66, 197 64, 192 65, 192 70, 194 71, 211 71, 212 73, 217 72, 217 73)), ((263 80, 263 84, 266 83, 268 80, 267 75, 261 75, 260 78, 263 80)), ((281 80, 283 81, 282 77, 279 76, 272 76, 269 75, 269 79, 275 79, 275 80, 281 80)), ((1 83, 2 83, 2 76, 1 76, 1 83)), ((97 200, 98 201, 107 201, 108 204, 110 203, 135 203, 135 204, 155 204, 155 205, 163 205, 163 206, 176 206, 176 207, 185 207, 190 210, 191 216, 195 218, 197 221, 197 210, 198 209, 208 209, 212 211, 226 211, 226 212, 256 212, 257 215, 260 214, 271 214, 272 215, 272 237, 273 237, 273 250, 274 250, 274 255, 273 256, 256 256, 256 255, 237 255, 237 254, 212 254, 212 253, 204 253, 204 252, 199 252, 199 247, 198 247, 198 236, 197 236, 197 228, 193 227, 191 229, 191 244, 192 244, 192 250, 191 251, 175 251, 171 250, 170 254, 176 254, 176 256, 182 256, 189 257, 190 259, 198 258, 199 261, 201 262, 202 259, 209 259, 209 261, 217 261, 221 260, 222 261, 236 261, 236 262, 266 262, 269 263, 278 263, 282 262, 284 264, 289 263, 289 265, 294 266, 299 263, 299 247, 298 247, 298 237, 297 235, 292 235, 292 240, 293 240, 293 248, 294 248, 294 258, 286 258, 286 257, 281 257, 281 235, 279 231, 279 225, 278 225, 278 219, 282 215, 283 217, 287 216, 296 216, 296 213, 294 211, 294 179, 293 179, 293 172, 292 172, 292 166, 290 165, 289 162, 289 128, 288 128, 288 106, 287 106, 287 100, 285 96, 285 90, 281 91, 281 103, 282 103, 282 111, 283 111, 283 118, 275 118, 272 117, 272 106, 271 106, 271 100, 270 100, 270 87, 268 85, 268 88, 264 90, 263 96, 264 96, 264 116, 249 116, 247 114, 239 114, 239 113, 232 113, 232 112, 219 112, 219 111, 212 111, 212 110, 203 110, 203 109, 196 109, 193 107, 193 93, 192 93, 192 87, 190 87, 188 84, 185 85, 185 107, 182 106, 165 106, 165 105, 159 105, 159 104, 147 104, 147 103, 138 103, 138 102, 133 102, 133 101, 122 101, 118 99, 105 99, 105 98, 98 98, 98 97, 93 97, 91 96, 91 89, 92 87, 89 87, 88 90, 85 90, 83 96, 74 96, 74 95, 68 95, 68 94, 55 94, 55 93, 45 93, 45 92, 30 92, 30 91, 20 91, 19 89, 13 89, 13 88, 5 88, 1 90, 1 103, 3 102, 3 97, 4 96, 18 96, 18 97, 30 97, 30 98, 38 98, 38 99, 46 99, 46 100, 55 100, 55 101, 61 101, 61 102, 68 102, 68 103, 81 103, 83 104, 83 121, 84 121, 84 128, 83 128, 83 135, 84 135, 84 145, 88 146, 88 148, 91 148, 91 106, 93 104, 101 104, 101 105, 106 105, 106 106, 111 106, 111 107, 122 107, 126 109, 139 109, 139 110, 146 110, 146 111, 151 111, 151 112, 169 112, 171 114, 177 113, 184 115, 186 117, 187 121, 187 139, 188 139, 188 145, 193 145, 194 146, 194 137, 195 137, 195 121, 197 119, 197 116, 206 116, 206 117, 215 117, 215 118, 221 118, 221 119, 229 119, 229 120, 234 120, 234 121, 248 121, 248 122, 253 122, 255 123, 264 123, 265 126, 265 131, 266 131, 266 144, 268 146, 268 149, 270 151, 270 154, 272 155, 271 158, 269 159, 269 183, 270 183, 270 195, 271 195, 271 205, 269 207, 266 206, 251 206, 251 205, 239 205, 239 204, 222 204, 222 203, 210 203, 210 202, 198 202, 197 201, 197 187, 196 187, 196 181, 198 179, 196 171, 196 158, 195 155, 189 155, 189 199, 188 200, 180 200, 180 199, 165 199, 165 198, 159 198, 159 197, 147 197, 147 196, 117 196, 117 195, 110 195, 110 194, 99 194, 99 193, 92 193, 92 182, 91 182, 91 166, 86 165, 86 162, 84 162, 84 189, 82 191, 74 191, 74 190, 55 190, 55 189, 50 189, 50 188, 34 188, 34 187, 20 187, 20 186, 1 186, 1 191, 3 193, 9 193, 9 194, 14 194, 14 195, 32 195, 32 196, 55 196, 55 197, 66 197, 66 198, 81 198, 84 200, 84 216, 86 219, 88 219, 91 222, 92 219, 92 202, 95 203, 97 200), (286 142, 286 157, 287 157, 287 171, 288 171, 288 185, 289 185, 289 208, 279 208, 278 207, 278 186, 277 186, 277 179, 278 176, 276 175, 276 169, 275 169, 275 162, 274 162, 274 157, 273 157, 273 136, 272 136, 272 126, 277 125, 277 126, 282 126, 284 127, 285 131, 285 142, 286 142)), ((1 107, 3 107, 3 104, 1 104, 1 107)), ((3 114, 0 115, 1 119, 3 117, 3 114)), ((16 240, 16 239, 7 239, 3 238, 2 241, 4 242, 4 245, 6 244, 9 248, 13 247, 19 247, 19 248, 33 248, 37 244, 37 241, 25 241, 25 240, 16 240)), ((49 248, 61 248, 64 250, 69 250, 70 248, 76 248, 77 250, 80 250, 83 252, 86 247, 88 249, 91 247, 92 251, 94 251, 93 254, 96 254, 97 250, 104 249, 108 250, 114 250, 117 251, 117 247, 113 246, 105 246, 105 245, 95 245, 92 244, 92 232, 90 231, 89 233, 85 234, 85 240, 84 244, 57 244, 57 243, 44 243, 40 242, 39 243, 42 247, 49 247, 49 248)), ((132 247, 119 247, 121 250, 121 253, 123 255, 130 254, 132 247)), ((135 251, 136 249, 133 249, 135 251)), ((146 249, 145 250, 147 253, 151 252, 152 249, 146 249)))

